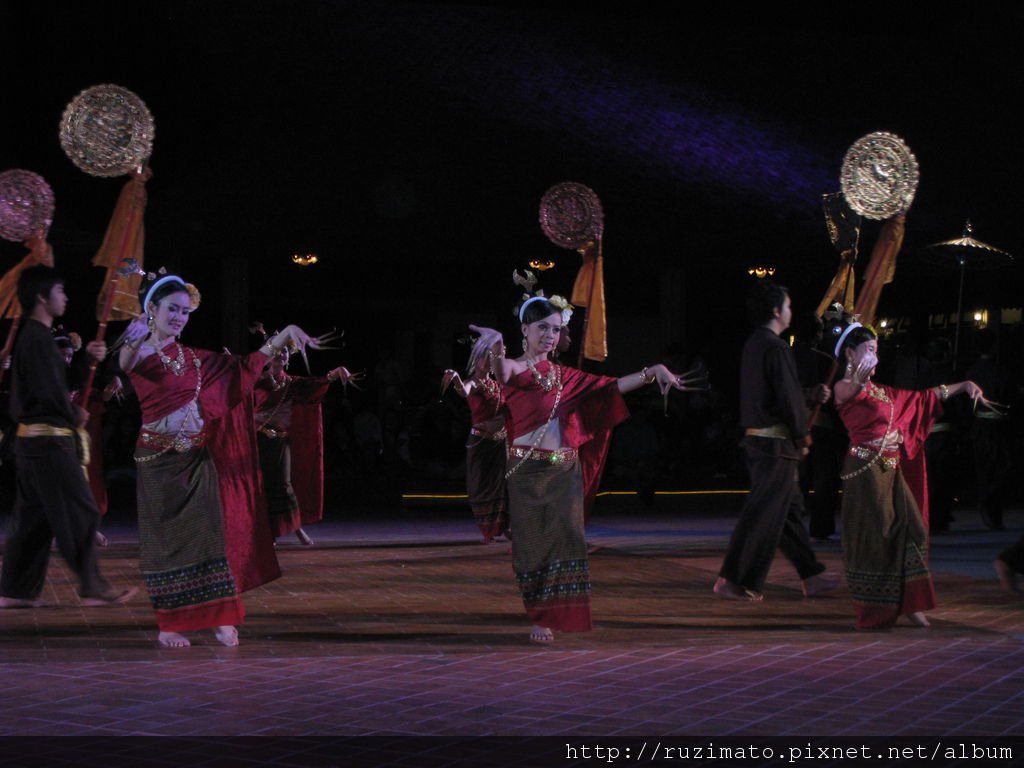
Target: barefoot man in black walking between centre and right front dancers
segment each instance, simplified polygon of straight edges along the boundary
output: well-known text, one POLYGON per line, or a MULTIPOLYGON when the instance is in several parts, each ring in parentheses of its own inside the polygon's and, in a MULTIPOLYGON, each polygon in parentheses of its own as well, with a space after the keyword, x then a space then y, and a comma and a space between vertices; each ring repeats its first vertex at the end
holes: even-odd
MULTIPOLYGON (((833 589, 811 549, 801 516, 803 498, 797 477, 807 455, 807 408, 793 350, 779 334, 790 327, 793 310, 785 288, 758 282, 748 299, 757 330, 743 345, 739 410, 745 427, 743 450, 751 493, 736 521, 715 594, 729 600, 761 601, 761 590, 775 550, 797 568, 807 597, 833 589)), ((830 392, 822 387, 818 400, 830 392)))

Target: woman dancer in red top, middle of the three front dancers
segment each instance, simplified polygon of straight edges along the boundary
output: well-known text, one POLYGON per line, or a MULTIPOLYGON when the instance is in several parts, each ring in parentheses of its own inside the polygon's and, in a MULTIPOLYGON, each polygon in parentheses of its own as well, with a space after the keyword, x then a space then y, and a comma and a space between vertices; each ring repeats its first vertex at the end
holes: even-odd
POLYGON ((471 365, 488 358, 503 385, 513 568, 534 623, 530 640, 543 643, 554 630, 591 629, 584 508, 597 492, 607 446, 595 438, 629 415, 624 392, 655 381, 667 392, 685 382, 662 365, 613 379, 552 361, 562 313, 543 297, 524 301, 519 319, 523 353, 516 359, 505 357, 498 331, 470 326, 480 334, 471 365))

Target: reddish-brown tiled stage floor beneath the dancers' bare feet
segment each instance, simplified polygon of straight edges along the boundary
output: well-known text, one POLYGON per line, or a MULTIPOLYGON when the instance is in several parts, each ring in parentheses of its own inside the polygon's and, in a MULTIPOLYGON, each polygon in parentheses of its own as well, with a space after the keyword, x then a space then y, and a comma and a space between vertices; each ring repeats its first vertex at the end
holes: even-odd
MULTIPOLYGON (((242 645, 154 647, 144 597, 0 611, 0 736, 868 736, 1024 733, 1024 599, 988 563, 1016 540, 970 512, 933 543, 933 627, 859 633, 845 589, 802 597, 779 557, 762 604, 716 600, 732 518, 699 500, 604 503, 588 531, 595 631, 526 639, 507 544, 468 512, 328 522, 279 549, 242 645)), ((103 567, 139 585, 130 526, 103 567)), ((840 569, 837 543, 819 548, 840 569)), ((0 759, 0 765, 6 763, 0 759)), ((256 763, 245 763, 257 765, 256 763)))

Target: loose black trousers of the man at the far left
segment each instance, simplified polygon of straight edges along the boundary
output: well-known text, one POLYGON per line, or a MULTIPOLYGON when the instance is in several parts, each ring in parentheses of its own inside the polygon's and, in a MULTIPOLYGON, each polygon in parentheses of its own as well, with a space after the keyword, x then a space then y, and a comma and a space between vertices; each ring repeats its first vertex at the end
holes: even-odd
POLYGON ((50 542, 78 575, 79 594, 97 597, 111 585, 99 572, 99 510, 73 437, 18 437, 17 500, 7 525, 0 595, 35 600, 43 591, 50 542))

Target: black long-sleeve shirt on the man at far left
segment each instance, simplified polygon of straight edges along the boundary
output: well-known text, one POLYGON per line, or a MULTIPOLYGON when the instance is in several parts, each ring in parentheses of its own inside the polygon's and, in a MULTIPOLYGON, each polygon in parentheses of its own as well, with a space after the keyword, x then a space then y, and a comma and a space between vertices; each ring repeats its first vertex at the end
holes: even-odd
POLYGON ((22 424, 71 429, 78 424, 68 394, 68 366, 50 329, 39 321, 26 319, 14 345, 10 417, 22 424))

